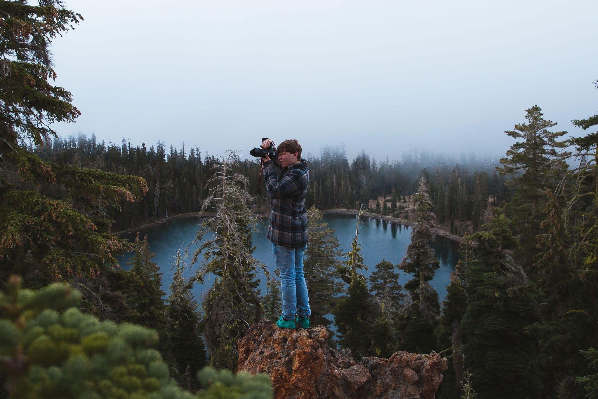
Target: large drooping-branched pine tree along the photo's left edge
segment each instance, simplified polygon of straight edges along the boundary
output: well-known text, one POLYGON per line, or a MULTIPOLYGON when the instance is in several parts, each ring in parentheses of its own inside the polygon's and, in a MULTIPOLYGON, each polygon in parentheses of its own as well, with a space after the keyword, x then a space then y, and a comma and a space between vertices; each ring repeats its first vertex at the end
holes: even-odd
POLYGON ((140 177, 42 161, 28 151, 28 140, 44 146, 57 137, 51 123, 80 115, 71 93, 50 82, 56 79, 50 43, 81 16, 58 0, 2 1, 0 10, 2 275, 22 274, 27 285, 99 275, 118 267, 118 254, 131 248, 109 233, 109 208, 141 199, 147 185, 140 177))

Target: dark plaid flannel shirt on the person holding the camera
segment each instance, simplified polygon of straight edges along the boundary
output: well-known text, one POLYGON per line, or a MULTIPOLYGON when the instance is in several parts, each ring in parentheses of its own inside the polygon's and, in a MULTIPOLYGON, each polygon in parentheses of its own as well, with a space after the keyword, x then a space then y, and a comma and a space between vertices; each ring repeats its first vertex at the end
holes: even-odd
POLYGON ((307 244, 305 194, 309 182, 307 161, 283 168, 276 177, 274 162, 264 162, 264 182, 272 199, 266 237, 276 245, 298 248, 307 244))

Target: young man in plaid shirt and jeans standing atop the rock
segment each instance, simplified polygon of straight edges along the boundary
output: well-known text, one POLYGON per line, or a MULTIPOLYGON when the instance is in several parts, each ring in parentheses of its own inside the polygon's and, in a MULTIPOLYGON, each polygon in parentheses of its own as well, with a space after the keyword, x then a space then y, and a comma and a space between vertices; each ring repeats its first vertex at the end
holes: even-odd
MULTIPOLYGON (((262 148, 267 149, 272 140, 266 139, 262 148)), ((295 322, 309 328, 307 284, 303 274, 303 253, 307 248, 307 210, 305 194, 309 182, 307 161, 301 159, 301 145, 297 140, 285 140, 277 148, 277 164, 282 169, 276 177, 274 161, 268 155, 264 161, 264 182, 272 199, 270 227, 267 238, 282 280, 282 315, 276 326, 294 329, 295 322)))

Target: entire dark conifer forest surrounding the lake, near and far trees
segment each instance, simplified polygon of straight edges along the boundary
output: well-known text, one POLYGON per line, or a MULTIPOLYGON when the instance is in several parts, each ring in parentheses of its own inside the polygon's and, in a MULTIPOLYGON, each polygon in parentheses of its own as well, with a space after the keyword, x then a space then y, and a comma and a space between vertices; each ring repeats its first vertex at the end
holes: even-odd
MULTIPOLYGON (((0 14, 0 397, 271 397, 269 377, 237 372, 237 341, 281 309, 280 277, 251 244, 270 208, 259 158, 60 137, 51 124, 80 111, 50 44, 83 18, 59 0, 0 0, 0 14), (188 213, 208 238, 189 264, 179 251, 157 265, 147 237, 117 234, 188 213)), ((304 154, 312 326, 358 359, 449 358, 437 398, 598 398, 598 115, 572 124, 584 135, 530 104, 500 127, 515 140, 501 156, 304 154), (333 208, 414 223, 402 262, 364 264, 359 218, 343 253, 322 222, 333 208), (442 301, 433 228, 460 240, 442 301)))

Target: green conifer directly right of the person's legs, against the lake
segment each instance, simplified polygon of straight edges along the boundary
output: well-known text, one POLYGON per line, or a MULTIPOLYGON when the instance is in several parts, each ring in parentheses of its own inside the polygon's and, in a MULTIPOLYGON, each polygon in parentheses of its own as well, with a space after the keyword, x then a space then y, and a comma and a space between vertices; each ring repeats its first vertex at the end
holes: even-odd
MULTIPOLYGON (((322 223, 323 217, 322 212, 315 206, 307 210, 308 243, 303 271, 312 309, 311 323, 313 326, 325 326, 329 329, 332 322, 326 315, 332 313, 343 287, 337 281, 340 245, 334 237, 334 229, 329 228, 327 223, 322 223)), ((332 336, 330 339, 332 340, 332 336)))

